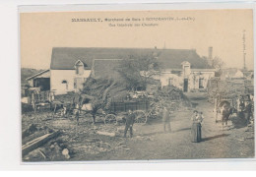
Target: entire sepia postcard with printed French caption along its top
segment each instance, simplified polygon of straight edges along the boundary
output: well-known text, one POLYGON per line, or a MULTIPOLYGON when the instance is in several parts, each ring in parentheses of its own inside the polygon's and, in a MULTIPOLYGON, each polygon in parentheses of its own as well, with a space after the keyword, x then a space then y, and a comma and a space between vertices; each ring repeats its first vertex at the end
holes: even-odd
POLYGON ((252 9, 19 18, 23 162, 255 158, 252 9))

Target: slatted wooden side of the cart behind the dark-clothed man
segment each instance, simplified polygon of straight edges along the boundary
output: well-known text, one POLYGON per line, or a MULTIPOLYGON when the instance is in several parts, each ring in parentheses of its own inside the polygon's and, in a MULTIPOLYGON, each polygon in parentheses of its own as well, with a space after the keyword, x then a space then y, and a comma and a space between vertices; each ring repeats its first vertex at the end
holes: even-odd
POLYGON ((150 101, 148 99, 129 101, 129 100, 111 100, 110 110, 113 112, 126 112, 128 110, 148 110, 150 101))

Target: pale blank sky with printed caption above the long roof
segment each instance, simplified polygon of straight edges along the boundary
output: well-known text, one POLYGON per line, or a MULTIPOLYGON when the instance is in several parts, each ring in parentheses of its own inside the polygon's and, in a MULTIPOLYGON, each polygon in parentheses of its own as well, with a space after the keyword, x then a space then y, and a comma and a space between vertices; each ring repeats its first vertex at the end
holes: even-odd
POLYGON ((254 66, 250 9, 22 13, 20 29, 23 68, 48 69, 52 47, 163 48, 164 44, 196 49, 200 56, 208 56, 213 46, 213 56, 222 58, 226 67, 242 68, 244 56, 246 67, 254 66), (155 26, 145 26, 150 24, 155 26))

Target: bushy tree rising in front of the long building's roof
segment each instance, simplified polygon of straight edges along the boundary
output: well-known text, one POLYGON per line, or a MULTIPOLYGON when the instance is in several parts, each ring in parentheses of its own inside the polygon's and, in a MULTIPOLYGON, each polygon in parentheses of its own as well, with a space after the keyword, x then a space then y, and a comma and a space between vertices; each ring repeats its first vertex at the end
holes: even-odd
POLYGON ((160 71, 160 64, 153 55, 133 56, 124 59, 117 71, 125 80, 127 89, 146 89, 150 79, 160 71))

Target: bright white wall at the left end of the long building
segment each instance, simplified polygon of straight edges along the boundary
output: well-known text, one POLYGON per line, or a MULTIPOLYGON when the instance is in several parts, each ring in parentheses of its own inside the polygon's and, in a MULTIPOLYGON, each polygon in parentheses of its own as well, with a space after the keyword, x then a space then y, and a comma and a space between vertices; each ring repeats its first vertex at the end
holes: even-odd
POLYGON ((75 70, 51 70, 50 71, 50 89, 56 90, 55 94, 65 94, 67 91, 77 91, 74 89, 75 78, 87 79, 91 75, 91 70, 85 70, 83 75, 76 75, 75 70), (66 84, 62 84, 63 81, 67 81, 66 84))

